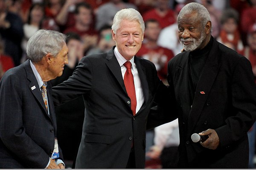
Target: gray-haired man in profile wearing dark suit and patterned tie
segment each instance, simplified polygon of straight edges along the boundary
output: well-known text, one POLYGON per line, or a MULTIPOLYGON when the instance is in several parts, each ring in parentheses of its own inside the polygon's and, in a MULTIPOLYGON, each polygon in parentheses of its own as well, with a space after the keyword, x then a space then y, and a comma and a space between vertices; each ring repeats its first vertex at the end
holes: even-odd
POLYGON ((28 41, 28 60, 0 82, 0 168, 64 169, 48 82, 67 64, 66 36, 39 30, 28 41), (45 87, 46 86, 46 87, 45 87))

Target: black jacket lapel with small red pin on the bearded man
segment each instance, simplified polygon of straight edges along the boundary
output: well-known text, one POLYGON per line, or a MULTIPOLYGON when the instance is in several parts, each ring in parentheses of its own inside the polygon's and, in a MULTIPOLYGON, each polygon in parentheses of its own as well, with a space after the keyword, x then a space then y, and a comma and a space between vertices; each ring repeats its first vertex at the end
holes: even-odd
POLYGON ((209 57, 204 65, 201 73, 201 77, 198 81, 198 85, 195 90, 195 97, 192 105, 192 109, 189 114, 188 129, 193 130, 198 118, 204 108, 207 101, 209 92, 218 74, 218 48, 217 42, 214 40, 212 49, 209 52, 209 57))

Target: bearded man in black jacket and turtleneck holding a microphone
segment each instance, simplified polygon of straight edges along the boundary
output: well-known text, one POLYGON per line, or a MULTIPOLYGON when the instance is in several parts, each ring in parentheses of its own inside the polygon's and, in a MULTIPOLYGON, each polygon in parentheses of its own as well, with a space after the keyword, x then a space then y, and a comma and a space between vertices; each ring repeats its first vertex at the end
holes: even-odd
POLYGON ((204 6, 187 4, 177 24, 185 51, 169 62, 168 82, 177 101, 179 166, 247 168, 247 131, 256 119, 250 62, 211 36, 204 6), (193 133, 208 139, 194 143, 193 133))

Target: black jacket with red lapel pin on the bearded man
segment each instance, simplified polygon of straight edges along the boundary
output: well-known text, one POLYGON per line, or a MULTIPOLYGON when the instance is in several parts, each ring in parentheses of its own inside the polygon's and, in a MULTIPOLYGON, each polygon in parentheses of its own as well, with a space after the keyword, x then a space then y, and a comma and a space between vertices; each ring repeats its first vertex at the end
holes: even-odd
POLYGON ((246 168, 247 131, 256 119, 256 87, 250 62, 214 40, 189 104, 189 52, 169 62, 168 82, 177 101, 180 163, 188 168, 246 168), (189 113, 186 121, 184 114, 189 113), (215 129, 216 150, 193 143, 191 135, 215 129), (189 165, 189 164, 190 165, 189 165))

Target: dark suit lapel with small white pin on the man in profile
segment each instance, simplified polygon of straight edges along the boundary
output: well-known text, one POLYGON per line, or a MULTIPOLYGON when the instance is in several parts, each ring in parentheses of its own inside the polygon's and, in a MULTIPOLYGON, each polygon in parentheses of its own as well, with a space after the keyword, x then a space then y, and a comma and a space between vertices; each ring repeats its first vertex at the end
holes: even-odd
POLYGON ((47 109, 44 105, 44 101, 43 101, 43 98, 42 98, 42 93, 41 93, 41 90, 39 88, 38 82, 35 78, 35 75, 32 71, 32 68, 29 64, 29 60, 27 60, 24 64, 25 64, 24 68, 26 70, 27 79, 29 80, 29 90, 35 96, 38 103, 40 103, 41 107, 44 109, 44 112, 47 114, 47 116, 49 116, 48 112, 47 112, 47 109))

